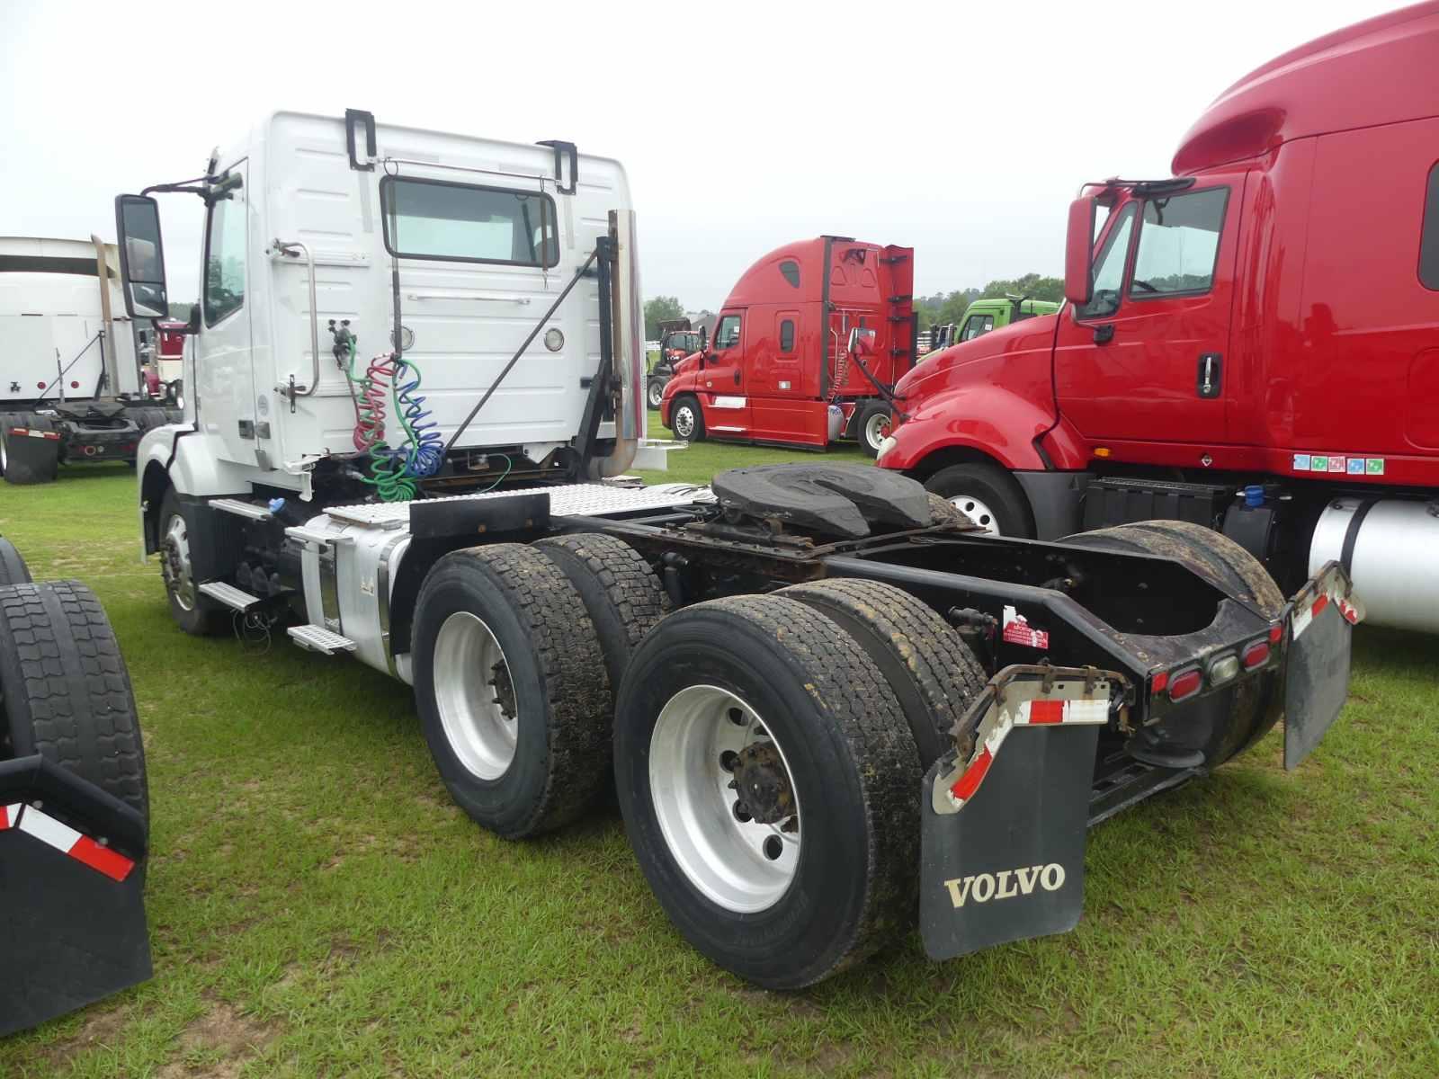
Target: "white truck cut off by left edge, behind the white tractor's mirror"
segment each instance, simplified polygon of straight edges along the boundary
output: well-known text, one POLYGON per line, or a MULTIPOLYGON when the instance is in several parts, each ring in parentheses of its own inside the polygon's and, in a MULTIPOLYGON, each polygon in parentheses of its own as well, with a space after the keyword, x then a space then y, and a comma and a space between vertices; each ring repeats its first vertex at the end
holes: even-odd
MULTIPOLYGON (((145 321, 148 329, 148 321, 145 321)), ((177 413, 150 400, 114 245, 0 237, 0 470, 55 479, 62 460, 134 460, 177 413)))

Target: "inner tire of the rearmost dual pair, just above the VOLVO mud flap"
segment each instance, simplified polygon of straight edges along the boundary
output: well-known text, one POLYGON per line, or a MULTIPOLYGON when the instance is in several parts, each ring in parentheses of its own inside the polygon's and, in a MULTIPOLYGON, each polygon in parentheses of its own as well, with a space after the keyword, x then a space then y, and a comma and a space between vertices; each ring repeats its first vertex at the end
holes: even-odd
POLYGON ((974 748, 968 706, 989 676, 932 607, 894 586, 846 578, 776 594, 832 619, 875 662, 909 722, 921 771, 955 744, 961 758, 968 755, 974 748))

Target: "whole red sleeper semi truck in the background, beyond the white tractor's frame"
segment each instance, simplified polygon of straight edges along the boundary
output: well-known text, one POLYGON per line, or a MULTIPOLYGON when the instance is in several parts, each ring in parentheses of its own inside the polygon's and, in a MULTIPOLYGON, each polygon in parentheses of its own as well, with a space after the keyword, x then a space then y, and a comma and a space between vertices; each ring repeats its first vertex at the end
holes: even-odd
POLYGON ((820 236, 778 247, 730 291, 705 350, 665 387, 681 439, 825 449, 889 433, 889 391, 915 361, 914 250, 820 236))

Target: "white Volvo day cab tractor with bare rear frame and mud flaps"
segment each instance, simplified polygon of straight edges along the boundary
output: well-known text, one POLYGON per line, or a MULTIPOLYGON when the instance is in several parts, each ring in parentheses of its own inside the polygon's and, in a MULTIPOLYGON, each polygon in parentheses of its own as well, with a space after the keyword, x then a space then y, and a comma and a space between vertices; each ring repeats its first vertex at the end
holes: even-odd
MULTIPOLYGON (((1361 607, 1176 522, 990 538, 871 468, 623 473, 645 433, 614 161, 278 114, 204 176, 184 423, 141 446, 190 633, 285 633, 414 688, 436 768, 519 839, 613 783, 681 932, 776 988, 914 927, 1072 928, 1085 830, 1348 688, 1361 607)), ((125 293, 164 317, 148 194, 125 293)))

